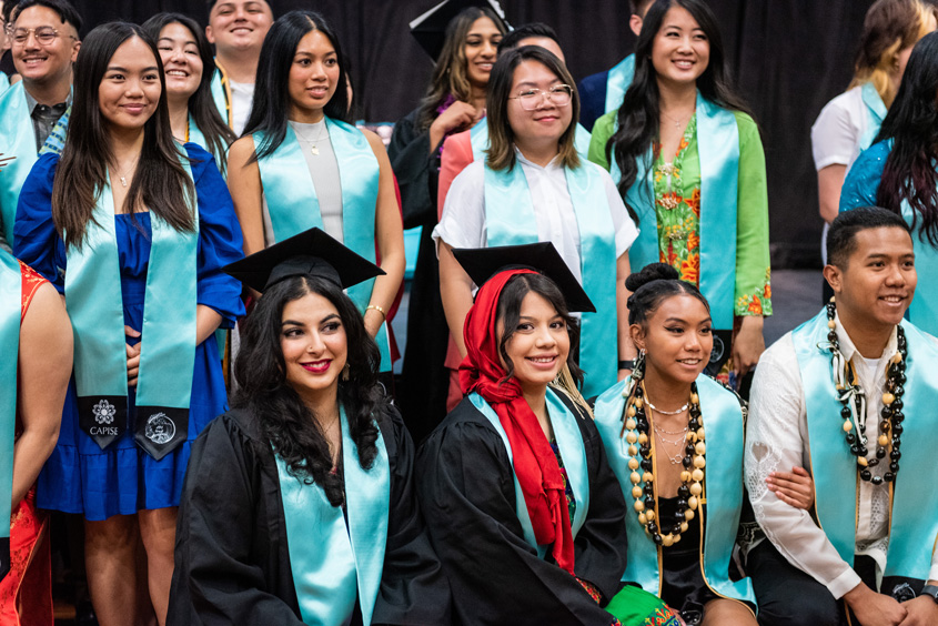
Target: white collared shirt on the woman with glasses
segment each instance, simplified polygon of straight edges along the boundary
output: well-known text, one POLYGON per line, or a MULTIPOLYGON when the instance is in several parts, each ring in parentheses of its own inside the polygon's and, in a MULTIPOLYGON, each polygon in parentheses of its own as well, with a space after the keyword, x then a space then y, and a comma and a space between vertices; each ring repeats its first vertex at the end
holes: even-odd
MULTIPOLYGON (((579 230, 576 213, 567 190, 566 172, 555 158, 546 166, 537 165, 524 158, 515 149, 515 155, 522 172, 527 179, 531 201, 535 208, 534 219, 537 228, 537 241, 549 241, 557 249, 573 275, 583 282, 579 265, 579 230)), ((628 251, 638 236, 638 229, 628 216, 622 198, 609 173, 588 161, 584 168, 596 168, 603 179, 609 213, 613 219, 616 259, 628 251)), ((444 241, 452 248, 485 248, 488 245, 485 223, 485 163, 473 161, 460 172, 446 194, 443 215, 433 229, 433 239, 440 244, 444 241)), ((615 279, 615 276, 613 276, 615 279)))

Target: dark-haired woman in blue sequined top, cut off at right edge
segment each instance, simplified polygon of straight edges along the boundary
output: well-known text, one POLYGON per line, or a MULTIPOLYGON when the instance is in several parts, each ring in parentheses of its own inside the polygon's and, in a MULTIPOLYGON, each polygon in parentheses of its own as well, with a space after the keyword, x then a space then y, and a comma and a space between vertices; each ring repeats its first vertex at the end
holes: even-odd
MULTIPOLYGON (((882 206, 915 231, 916 265, 938 262, 938 33, 926 34, 909 57, 902 84, 876 142, 854 162, 840 191, 840 211, 882 206)), ((938 284, 919 281, 908 317, 938 334, 938 284)), ((909 297, 911 297, 909 295, 909 297)))

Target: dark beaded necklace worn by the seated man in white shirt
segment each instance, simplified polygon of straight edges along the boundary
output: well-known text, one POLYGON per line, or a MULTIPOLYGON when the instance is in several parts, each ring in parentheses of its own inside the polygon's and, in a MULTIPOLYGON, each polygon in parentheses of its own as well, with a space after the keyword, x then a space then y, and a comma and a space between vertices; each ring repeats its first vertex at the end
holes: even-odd
POLYGON ((902 420, 906 416, 902 414, 902 394, 905 393, 906 384, 906 359, 908 357, 908 345, 906 343, 906 333, 901 325, 896 326, 896 347, 898 352, 892 355, 887 366, 886 385, 882 392, 882 410, 879 416, 882 418, 879 422, 879 437, 876 441, 876 457, 867 458, 869 450, 866 444, 868 442, 866 436, 866 396, 863 388, 857 384, 857 374, 853 366, 844 359, 840 353, 840 342, 837 340, 836 323, 834 314, 836 305, 834 299, 827 304, 827 349, 830 351, 831 370, 834 371, 834 385, 837 388, 837 400, 843 405, 840 407, 840 418, 844 420, 843 428, 846 434, 847 445, 850 446, 850 452, 857 457, 857 472, 860 478, 874 485, 881 485, 885 482, 891 483, 899 474, 899 458, 902 453, 899 452, 901 446, 902 420), (853 374, 853 376, 850 376, 853 374), (850 398, 854 398, 856 406, 856 418, 850 408, 850 398), (854 433, 854 424, 857 426, 857 433, 854 433), (891 432, 891 440, 890 434, 891 432), (874 476, 870 467, 879 465, 879 461, 886 458, 887 446, 892 446, 889 452, 889 470, 882 476, 874 476))

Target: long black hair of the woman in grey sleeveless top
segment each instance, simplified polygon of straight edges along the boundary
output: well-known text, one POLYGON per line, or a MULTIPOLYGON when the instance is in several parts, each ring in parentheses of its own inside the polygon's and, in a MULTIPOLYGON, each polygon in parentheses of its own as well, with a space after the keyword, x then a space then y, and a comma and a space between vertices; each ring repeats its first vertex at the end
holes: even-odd
POLYGON ((264 140, 255 147, 256 159, 263 159, 280 148, 286 137, 286 120, 290 113, 290 67, 296 54, 300 40, 319 30, 335 49, 339 60, 339 80, 335 93, 326 102, 323 112, 333 120, 349 122, 349 94, 345 91, 345 57, 342 47, 329 23, 315 11, 290 11, 276 20, 261 48, 258 60, 258 79, 254 83, 254 102, 242 137, 262 132, 264 140))

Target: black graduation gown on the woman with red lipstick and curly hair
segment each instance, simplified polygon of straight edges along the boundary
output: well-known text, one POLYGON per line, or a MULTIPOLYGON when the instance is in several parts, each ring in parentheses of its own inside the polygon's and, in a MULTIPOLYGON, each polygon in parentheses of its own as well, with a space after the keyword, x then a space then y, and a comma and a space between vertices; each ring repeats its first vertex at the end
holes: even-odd
MULTIPOLYGON (((450 592, 417 508, 413 443, 379 422, 391 468, 387 547, 373 624, 450 623, 450 592)), ((361 624, 359 610, 352 624, 361 624)), ((230 411, 192 444, 175 542, 170 625, 302 625, 271 445, 230 411)))

